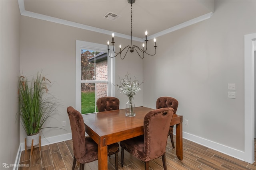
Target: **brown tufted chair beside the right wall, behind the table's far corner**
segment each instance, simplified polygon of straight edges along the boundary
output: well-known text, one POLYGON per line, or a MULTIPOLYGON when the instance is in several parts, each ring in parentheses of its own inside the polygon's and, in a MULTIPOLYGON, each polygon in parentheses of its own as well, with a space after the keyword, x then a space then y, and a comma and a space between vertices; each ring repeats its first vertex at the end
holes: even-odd
MULTIPOLYGON (((160 97, 156 100, 156 109, 160 109, 164 107, 172 107, 174 109, 174 114, 176 114, 178 105, 179 105, 178 100, 172 97, 160 97)), ((175 148, 174 141, 173 141, 173 125, 170 126, 169 135, 171 138, 172 147, 175 148)))

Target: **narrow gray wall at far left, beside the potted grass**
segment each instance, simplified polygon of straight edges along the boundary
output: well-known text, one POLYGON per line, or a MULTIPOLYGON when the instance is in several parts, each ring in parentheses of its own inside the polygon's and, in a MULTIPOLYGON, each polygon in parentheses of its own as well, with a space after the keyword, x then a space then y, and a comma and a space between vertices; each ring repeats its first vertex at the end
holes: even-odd
MULTIPOLYGON (((20 145, 17 82, 20 74, 20 11, 0 1, 0 164, 13 164, 20 145)), ((24 139, 23 139, 24 140, 24 139)), ((1 168, 2 169, 2 168, 1 168)))

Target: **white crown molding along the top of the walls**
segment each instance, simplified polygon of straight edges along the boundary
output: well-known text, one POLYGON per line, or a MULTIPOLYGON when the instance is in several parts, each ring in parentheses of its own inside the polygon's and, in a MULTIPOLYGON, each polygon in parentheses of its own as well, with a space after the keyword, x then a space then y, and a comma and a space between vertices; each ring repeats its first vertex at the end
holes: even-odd
MULTIPOLYGON (((80 29, 94 31, 94 32, 103 33, 103 34, 107 34, 107 35, 112 34, 112 31, 108 31, 106 29, 91 27, 91 26, 88 26, 88 25, 84 25, 84 24, 80 24, 80 23, 76 23, 76 22, 72 22, 72 21, 62 20, 62 19, 59 19, 59 18, 54 18, 54 17, 42 15, 42 14, 37 14, 35 12, 26 11, 25 6, 24 6, 24 0, 18 0, 18 4, 19 4, 19 8, 20 8, 20 15, 22 15, 22 16, 36 18, 36 19, 39 19, 39 20, 50 21, 50 22, 54 22, 54 23, 60 23, 60 24, 63 24, 63 25, 68 25, 68 26, 71 26, 71 27, 77 27, 77 28, 80 28, 80 29)), ((155 33, 153 35, 148 36, 148 40, 154 39, 155 37, 160 37, 160 36, 168 34, 168 33, 171 33, 171 32, 176 31, 178 29, 182 29, 182 28, 187 27, 189 25, 193 25, 194 23, 198 23, 200 21, 207 20, 207 19, 211 18, 212 15, 213 15, 213 12, 210 12, 208 14, 204 14, 202 16, 199 16, 199 17, 194 18, 192 20, 186 21, 186 22, 181 23, 179 25, 176 25, 174 27, 170 27, 168 29, 165 29, 163 31, 160 31, 158 33, 155 33)), ((122 33, 116 33, 115 32, 115 36, 125 38, 125 39, 130 39, 130 35, 125 35, 125 34, 122 34, 122 33)), ((144 38, 132 37, 132 39, 134 41, 139 41, 139 42, 144 41, 144 38)))

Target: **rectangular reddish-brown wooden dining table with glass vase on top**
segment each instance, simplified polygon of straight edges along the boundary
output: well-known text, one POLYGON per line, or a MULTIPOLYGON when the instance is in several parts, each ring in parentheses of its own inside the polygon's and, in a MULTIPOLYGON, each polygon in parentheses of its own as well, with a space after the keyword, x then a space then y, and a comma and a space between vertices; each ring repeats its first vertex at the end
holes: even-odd
MULTIPOLYGON (((144 116, 152 108, 136 107, 135 117, 126 117, 125 109, 84 114, 86 133, 98 144, 98 169, 108 169, 108 145, 143 135, 144 116)), ((174 114, 170 125, 176 125, 176 155, 183 159, 182 115, 174 114)), ((157 146, 156 146, 157 147, 157 146)))

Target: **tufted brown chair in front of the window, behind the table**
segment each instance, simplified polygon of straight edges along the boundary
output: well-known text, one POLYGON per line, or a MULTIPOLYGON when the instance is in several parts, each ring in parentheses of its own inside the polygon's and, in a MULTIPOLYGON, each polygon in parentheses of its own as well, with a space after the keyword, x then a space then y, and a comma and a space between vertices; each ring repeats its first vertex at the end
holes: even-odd
POLYGON ((110 111, 119 109, 119 99, 115 97, 102 97, 97 100, 98 111, 110 111))

